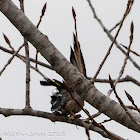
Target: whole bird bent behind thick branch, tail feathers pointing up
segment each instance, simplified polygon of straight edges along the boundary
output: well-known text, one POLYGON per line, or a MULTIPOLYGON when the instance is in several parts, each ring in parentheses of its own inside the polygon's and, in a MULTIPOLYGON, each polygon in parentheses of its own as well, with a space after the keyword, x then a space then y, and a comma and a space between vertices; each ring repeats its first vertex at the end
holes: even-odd
MULTIPOLYGON (((71 48, 70 62, 86 77, 86 67, 83 59, 80 43, 73 33, 73 45, 71 48)), ((74 115, 80 112, 84 106, 84 100, 64 82, 56 79, 40 81, 42 86, 54 86, 57 91, 51 96, 51 111, 62 115, 74 115), (69 92, 70 91, 70 92, 69 92)))

